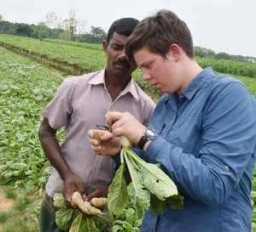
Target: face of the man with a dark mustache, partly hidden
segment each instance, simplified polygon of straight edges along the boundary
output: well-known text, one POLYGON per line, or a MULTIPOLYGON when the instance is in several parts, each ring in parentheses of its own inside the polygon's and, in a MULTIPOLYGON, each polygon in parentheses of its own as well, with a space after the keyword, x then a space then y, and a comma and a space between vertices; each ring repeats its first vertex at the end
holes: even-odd
POLYGON ((109 43, 103 42, 104 52, 108 57, 107 71, 110 75, 130 78, 132 71, 137 68, 135 61, 129 60, 125 55, 126 40, 127 37, 114 32, 109 43))

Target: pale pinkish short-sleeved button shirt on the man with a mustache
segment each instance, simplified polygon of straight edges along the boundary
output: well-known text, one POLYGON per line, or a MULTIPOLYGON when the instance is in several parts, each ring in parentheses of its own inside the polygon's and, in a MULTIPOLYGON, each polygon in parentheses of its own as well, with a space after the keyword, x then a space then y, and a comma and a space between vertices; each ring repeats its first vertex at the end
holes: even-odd
MULTIPOLYGON (((131 81, 114 101, 105 86, 105 71, 96 71, 84 76, 67 77, 49 102, 41 116, 49 119, 50 127, 66 128, 61 151, 69 167, 84 183, 87 194, 107 187, 114 175, 114 162, 110 157, 96 156, 90 150, 87 137, 96 123, 105 122, 108 110, 128 111, 139 122, 148 125, 154 110, 154 101, 131 81)), ((53 197, 62 191, 63 182, 53 169, 46 184, 46 192, 53 197)))

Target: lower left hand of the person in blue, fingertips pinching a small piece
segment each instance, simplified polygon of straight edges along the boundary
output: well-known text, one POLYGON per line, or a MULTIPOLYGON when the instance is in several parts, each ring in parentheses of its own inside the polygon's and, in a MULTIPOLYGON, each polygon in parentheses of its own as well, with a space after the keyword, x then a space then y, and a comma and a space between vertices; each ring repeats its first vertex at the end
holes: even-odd
POLYGON ((90 149, 97 155, 115 156, 119 153, 119 138, 113 137, 112 133, 102 130, 89 130, 87 134, 89 137, 90 149), (100 135, 100 141, 96 139, 95 133, 100 135))

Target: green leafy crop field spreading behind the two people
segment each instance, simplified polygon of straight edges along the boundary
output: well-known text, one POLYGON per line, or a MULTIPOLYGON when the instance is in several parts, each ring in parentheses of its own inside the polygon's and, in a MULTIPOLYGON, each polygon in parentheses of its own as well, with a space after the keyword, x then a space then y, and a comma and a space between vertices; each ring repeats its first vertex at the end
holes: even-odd
MULTIPOLYGON (((88 71, 104 68, 106 58, 101 45, 79 42, 39 41, 1 35, 0 44, 13 50, 0 47, 0 189, 3 186, 3 195, 17 204, 4 212, 0 208, 0 232, 38 231, 38 203, 34 205, 32 202, 41 199, 52 168, 38 141, 39 113, 53 98, 62 79, 48 66, 32 61, 33 55, 41 55, 44 64, 47 62, 43 58, 47 57, 81 65, 88 71), (26 54, 30 59, 14 52, 26 54)), ((210 59, 201 59, 200 62, 218 72, 230 73, 244 82, 256 96, 255 64, 223 61, 221 65, 218 60, 210 59)), ((60 63, 61 71, 65 70, 61 68, 63 64, 60 63)), ((135 78, 138 84, 148 93, 153 93, 139 76, 140 72, 137 71, 135 78)), ((63 138, 63 131, 58 133, 58 137, 63 138)), ((115 218, 114 224, 119 229, 116 231, 137 231, 141 223, 143 216, 135 212, 131 189, 129 193, 131 203, 115 218)), ((253 176, 252 203, 253 231, 256 231, 256 173, 253 176)))

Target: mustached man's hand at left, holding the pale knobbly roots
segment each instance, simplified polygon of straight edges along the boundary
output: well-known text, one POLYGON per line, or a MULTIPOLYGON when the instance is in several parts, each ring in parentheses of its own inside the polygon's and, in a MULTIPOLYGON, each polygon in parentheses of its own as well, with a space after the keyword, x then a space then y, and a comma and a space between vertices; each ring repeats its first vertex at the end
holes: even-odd
POLYGON ((73 195, 74 191, 78 191, 82 195, 84 200, 87 200, 84 184, 82 183, 81 179, 77 175, 69 173, 67 177, 63 179, 62 189, 62 195, 64 196, 65 205, 67 207, 74 208, 71 200, 71 196, 73 195))

